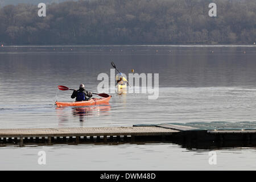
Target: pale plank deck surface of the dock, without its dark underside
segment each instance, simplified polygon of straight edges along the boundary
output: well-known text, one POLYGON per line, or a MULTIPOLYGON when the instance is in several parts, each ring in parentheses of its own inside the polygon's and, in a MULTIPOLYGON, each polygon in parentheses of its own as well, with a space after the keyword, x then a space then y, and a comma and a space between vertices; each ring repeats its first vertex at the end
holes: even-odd
POLYGON ((162 127, 80 127, 49 129, 0 129, 0 137, 75 137, 75 136, 119 136, 119 135, 171 135, 178 130, 162 127))

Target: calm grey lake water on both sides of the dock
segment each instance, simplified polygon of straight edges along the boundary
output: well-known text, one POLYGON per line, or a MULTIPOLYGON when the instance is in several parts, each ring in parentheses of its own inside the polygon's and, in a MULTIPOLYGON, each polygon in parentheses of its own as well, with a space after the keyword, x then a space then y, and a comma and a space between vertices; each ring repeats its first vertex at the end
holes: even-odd
MULTIPOLYGON (((0 127, 166 122, 249 123, 256 127, 255 57, 255 46, 1 47, 0 127), (159 73, 158 99, 148 100, 148 94, 142 93, 111 93, 109 105, 56 108, 56 100, 72 101, 72 92, 58 90, 57 85, 77 88, 82 82, 87 90, 97 92, 97 76, 110 75, 111 61, 126 74, 131 69, 159 73)), ((9 146, 1 147, 0 154, 0 169, 106 169, 109 165, 108 169, 135 169, 138 160, 138 169, 255 169, 254 148, 218 150, 220 159, 213 167, 208 164, 208 151, 191 151, 170 143, 9 146), (42 148, 51 159, 46 167, 34 161, 42 148)))

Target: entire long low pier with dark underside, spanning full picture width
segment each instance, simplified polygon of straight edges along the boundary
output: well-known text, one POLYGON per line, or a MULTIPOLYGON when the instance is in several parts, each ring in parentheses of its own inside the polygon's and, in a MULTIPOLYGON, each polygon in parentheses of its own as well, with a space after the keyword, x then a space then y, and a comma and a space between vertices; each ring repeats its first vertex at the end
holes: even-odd
POLYGON ((133 127, 0 129, 0 146, 134 142, 171 142, 186 148, 256 146, 256 130, 201 129, 170 123, 133 127))

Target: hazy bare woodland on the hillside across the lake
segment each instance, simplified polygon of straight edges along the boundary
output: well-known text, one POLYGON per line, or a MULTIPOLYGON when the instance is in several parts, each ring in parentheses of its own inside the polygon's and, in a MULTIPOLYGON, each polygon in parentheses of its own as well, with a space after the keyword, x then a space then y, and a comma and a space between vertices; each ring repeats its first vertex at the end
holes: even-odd
POLYGON ((0 9, 0 42, 51 44, 253 44, 255 0, 80 0, 0 9), (209 3, 217 17, 209 17, 209 3))

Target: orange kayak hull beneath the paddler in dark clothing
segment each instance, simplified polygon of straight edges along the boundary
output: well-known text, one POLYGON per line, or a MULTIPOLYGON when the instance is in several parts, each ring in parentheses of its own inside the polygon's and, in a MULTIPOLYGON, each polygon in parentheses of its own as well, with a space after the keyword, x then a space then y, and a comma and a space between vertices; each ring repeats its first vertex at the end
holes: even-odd
POLYGON ((57 107, 100 105, 100 104, 108 103, 110 98, 111 98, 111 96, 102 97, 102 98, 91 98, 89 101, 79 101, 79 102, 58 102, 58 101, 56 101, 55 104, 57 105, 57 107))

